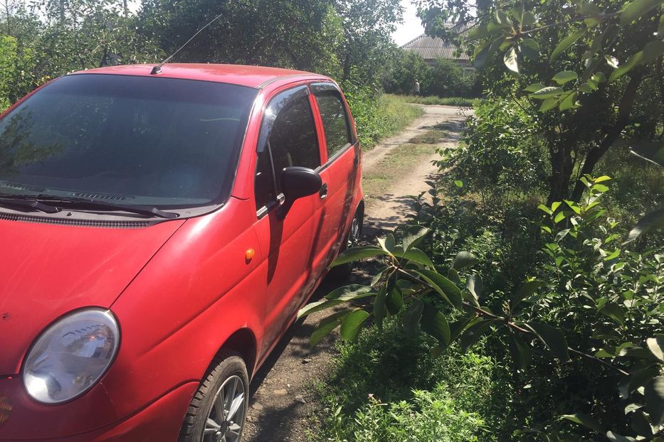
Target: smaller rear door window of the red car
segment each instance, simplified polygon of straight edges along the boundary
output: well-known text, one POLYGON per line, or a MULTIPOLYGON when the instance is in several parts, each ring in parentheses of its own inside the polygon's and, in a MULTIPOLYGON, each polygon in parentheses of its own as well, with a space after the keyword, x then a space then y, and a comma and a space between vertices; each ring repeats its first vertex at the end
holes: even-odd
POLYGON ((327 156, 330 158, 352 143, 348 114, 341 95, 336 90, 317 92, 316 102, 325 128, 327 156))

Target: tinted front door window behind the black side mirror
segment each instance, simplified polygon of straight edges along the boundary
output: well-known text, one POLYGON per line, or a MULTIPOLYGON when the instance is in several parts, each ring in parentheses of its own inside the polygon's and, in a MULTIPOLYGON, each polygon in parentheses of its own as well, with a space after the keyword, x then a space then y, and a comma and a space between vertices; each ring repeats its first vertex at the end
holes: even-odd
POLYGON ((260 208, 281 193, 281 174, 290 166, 320 166, 318 136, 306 86, 270 101, 258 141, 255 198, 260 208))

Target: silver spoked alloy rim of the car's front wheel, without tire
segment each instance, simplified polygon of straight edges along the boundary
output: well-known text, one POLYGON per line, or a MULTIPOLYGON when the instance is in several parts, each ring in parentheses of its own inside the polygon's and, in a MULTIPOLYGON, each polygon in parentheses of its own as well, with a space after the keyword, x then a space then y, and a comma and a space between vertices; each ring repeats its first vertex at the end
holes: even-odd
POLYGON ((214 395, 201 442, 238 442, 246 411, 245 387, 241 377, 228 377, 214 395))

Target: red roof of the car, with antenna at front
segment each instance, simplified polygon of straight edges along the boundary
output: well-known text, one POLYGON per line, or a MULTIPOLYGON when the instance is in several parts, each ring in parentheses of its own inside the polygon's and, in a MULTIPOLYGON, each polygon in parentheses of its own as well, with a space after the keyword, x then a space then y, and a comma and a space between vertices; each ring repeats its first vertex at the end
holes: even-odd
POLYGON ((318 75, 302 70, 266 68, 248 65, 213 65, 204 63, 168 63, 162 66, 162 72, 151 74, 155 65, 122 65, 73 72, 80 74, 137 75, 144 77, 180 78, 185 80, 203 80, 229 83, 261 89, 278 80, 330 80, 325 75, 318 75))

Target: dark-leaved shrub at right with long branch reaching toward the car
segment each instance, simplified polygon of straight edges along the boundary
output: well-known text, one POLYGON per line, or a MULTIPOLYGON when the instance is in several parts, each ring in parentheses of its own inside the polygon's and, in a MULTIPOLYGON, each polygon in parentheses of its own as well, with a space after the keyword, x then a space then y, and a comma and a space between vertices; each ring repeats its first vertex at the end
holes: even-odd
MULTIPOLYGON (((455 342, 462 350, 484 342, 485 352, 515 366, 513 413, 529 433, 548 440, 595 434, 656 440, 664 432, 664 248, 633 252, 618 245, 623 235, 611 231, 616 224, 601 207, 608 179, 585 176, 584 200, 540 206, 549 218, 540 223, 551 236, 542 249, 547 259, 539 279, 509 295, 483 289, 470 271, 478 262, 473 254, 434 264, 418 248, 429 233, 418 225, 399 242, 388 235, 379 247, 341 254, 337 264, 380 256, 386 265, 371 286, 337 289, 302 314, 370 297, 370 306, 339 311, 322 327, 341 325, 342 338, 354 340, 371 316, 378 330, 396 317, 406 335, 421 330, 435 339, 433 354, 455 342), (492 300, 500 302, 488 305, 492 300)), ((500 428, 514 424, 503 421, 500 428)))

